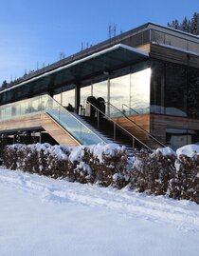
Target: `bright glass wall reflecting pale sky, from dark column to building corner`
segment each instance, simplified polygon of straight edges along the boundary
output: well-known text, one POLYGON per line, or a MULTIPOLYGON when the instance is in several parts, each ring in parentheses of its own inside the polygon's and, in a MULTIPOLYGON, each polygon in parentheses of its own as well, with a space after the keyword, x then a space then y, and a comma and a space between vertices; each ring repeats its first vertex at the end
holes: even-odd
MULTIPOLYGON (((126 114, 134 114, 134 109, 139 113, 149 112, 150 107, 150 80, 151 69, 148 65, 144 65, 143 69, 125 69, 115 71, 108 77, 102 76, 103 81, 91 82, 85 81, 83 84, 88 84, 86 87, 81 87, 81 106, 85 107, 85 100, 88 96, 94 96, 96 99, 103 98, 105 102, 110 102, 111 105, 119 110, 125 110, 126 114), (110 86, 110 94, 108 87, 110 86), (132 111, 130 110, 131 108, 132 111)), ((116 109, 111 106, 111 113, 116 109)))

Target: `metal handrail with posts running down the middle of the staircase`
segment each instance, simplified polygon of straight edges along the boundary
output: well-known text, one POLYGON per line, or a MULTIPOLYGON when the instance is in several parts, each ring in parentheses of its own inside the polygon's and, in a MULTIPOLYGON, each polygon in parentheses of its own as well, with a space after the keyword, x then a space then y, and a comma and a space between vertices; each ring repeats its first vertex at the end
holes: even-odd
POLYGON ((89 104, 90 106, 92 106, 93 108, 95 108, 98 111, 98 128, 99 128, 99 112, 105 116, 108 120, 110 120, 113 124, 114 124, 114 140, 116 140, 116 127, 122 129, 123 131, 125 131, 126 133, 128 133, 128 135, 130 135, 133 138, 133 149, 135 149, 135 140, 140 143, 143 147, 149 149, 152 151, 152 148, 149 148, 146 144, 144 144, 143 142, 141 142, 138 138, 136 138, 135 135, 133 135, 131 132, 129 132, 127 129, 121 127, 117 122, 115 122, 113 119, 111 119, 110 116, 108 116, 107 114, 105 114, 103 111, 101 111, 99 108, 97 108, 95 105, 93 105, 92 103, 88 102, 86 100, 86 103, 89 104))

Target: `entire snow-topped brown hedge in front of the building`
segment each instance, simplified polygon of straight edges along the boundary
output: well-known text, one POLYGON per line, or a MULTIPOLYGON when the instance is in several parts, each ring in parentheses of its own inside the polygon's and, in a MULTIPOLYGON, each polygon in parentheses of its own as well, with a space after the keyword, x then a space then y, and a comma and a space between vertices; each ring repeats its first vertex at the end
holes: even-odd
POLYGON ((103 187, 130 187, 139 192, 188 199, 199 204, 199 146, 136 150, 129 159, 116 144, 89 147, 13 145, 5 148, 4 165, 72 182, 103 187))

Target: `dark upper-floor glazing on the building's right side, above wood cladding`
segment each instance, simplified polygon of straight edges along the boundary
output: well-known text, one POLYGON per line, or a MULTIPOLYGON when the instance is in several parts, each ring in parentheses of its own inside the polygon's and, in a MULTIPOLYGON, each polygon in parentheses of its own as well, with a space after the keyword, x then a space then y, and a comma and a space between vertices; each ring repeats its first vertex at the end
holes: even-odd
POLYGON ((154 61, 151 112, 199 119, 199 70, 154 61))

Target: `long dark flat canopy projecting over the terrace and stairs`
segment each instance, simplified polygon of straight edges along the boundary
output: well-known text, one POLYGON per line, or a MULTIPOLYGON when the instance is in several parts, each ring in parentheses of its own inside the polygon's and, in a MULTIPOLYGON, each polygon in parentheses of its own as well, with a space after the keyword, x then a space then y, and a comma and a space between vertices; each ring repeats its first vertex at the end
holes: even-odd
POLYGON ((18 101, 29 96, 34 96, 49 90, 69 86, 81 82, 89 77, 111 72, 116 69, 133 65, 149 58, 145 51, 118 44, 109 49, 103 49, 63 67, 46 71, 24 82, 0 91, 0 102, 18 101))

